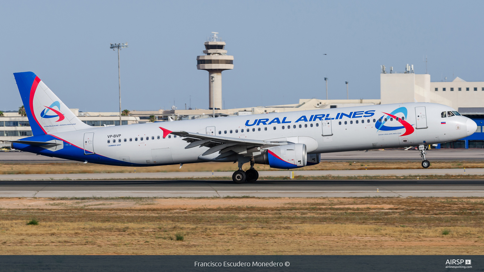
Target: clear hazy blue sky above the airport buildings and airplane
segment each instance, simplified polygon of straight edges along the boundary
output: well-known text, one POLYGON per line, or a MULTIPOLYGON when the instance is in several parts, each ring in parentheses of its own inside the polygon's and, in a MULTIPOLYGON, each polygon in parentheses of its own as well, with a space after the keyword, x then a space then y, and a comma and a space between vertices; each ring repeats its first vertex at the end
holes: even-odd
POLYGON ((196 57, 212 31, 233 55, 226 108, 325 96, 378 99, 380 65, 432 81, 484 81, 483 1, 1 1, 0 109, 22 105, 15 72, 36 73, 82 111, 208 107, 196 57), (328 54, 324 56, 323 54, 328 54))

